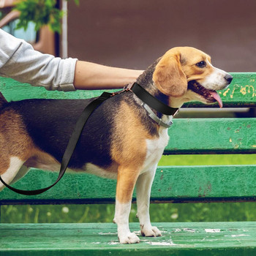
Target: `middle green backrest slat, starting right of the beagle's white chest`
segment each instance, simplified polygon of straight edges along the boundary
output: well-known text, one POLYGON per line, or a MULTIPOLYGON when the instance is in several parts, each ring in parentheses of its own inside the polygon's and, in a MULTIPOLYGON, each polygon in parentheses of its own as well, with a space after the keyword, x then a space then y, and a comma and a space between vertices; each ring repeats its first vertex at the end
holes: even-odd
POLYGON ((256 118, 174 119, 165 154, 256 153, 256 118))

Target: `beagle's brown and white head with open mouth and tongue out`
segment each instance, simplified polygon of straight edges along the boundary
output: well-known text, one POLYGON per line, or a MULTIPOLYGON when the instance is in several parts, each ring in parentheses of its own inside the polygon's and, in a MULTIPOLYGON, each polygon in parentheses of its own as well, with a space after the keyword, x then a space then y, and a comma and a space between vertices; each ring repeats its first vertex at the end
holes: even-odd
POLYGON ((222 100, 217 90, 225 89, 232 81, 227 72, 211 64, 211 57, 190 47, 172 48, 158 62, 153 81, 157 89, 172 98, 174 105, 199 100, 203 103, 222 100))

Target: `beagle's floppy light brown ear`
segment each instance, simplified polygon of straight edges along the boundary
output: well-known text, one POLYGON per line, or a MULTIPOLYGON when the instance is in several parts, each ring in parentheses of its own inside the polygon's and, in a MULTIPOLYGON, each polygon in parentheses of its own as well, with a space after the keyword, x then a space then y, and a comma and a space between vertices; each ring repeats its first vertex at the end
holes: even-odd
POLYGON ((154 70, 153 80, 157 89, 172 97, 181 97, 187 91, 187 78, 181 69, 181 54, 168 50, 154 70))

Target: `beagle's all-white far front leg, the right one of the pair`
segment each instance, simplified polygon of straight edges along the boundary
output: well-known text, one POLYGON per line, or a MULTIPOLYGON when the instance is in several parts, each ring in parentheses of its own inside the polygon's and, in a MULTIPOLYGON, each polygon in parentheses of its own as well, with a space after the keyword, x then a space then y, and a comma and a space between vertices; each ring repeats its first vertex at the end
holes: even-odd
POLYGON ((148 170, 146 173, 141 174, 136 184, 138 218, 140 219, 140 232, 142 236, 161 236, 159 229, 152 227, 149 216, 151 186, 156 169, 157 166, 153 170, 148 170))

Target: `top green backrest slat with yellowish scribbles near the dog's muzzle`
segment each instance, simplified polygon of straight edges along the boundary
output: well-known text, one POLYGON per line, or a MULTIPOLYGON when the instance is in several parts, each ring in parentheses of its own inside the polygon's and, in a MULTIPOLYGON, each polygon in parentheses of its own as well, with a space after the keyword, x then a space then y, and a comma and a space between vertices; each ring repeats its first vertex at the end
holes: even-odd
MULTIPOLYGON (((256 73, 233 73, 234 79, 228 89, 219 92, 225 107, 256 106, 256 73)), ((0 91, 7 100, 21 99, 85 99, 98 97, 102 91, 47 91, 42 87, 32 87, 18 83, 10 78, 0 77, 0 91)), ((113 91, 113 90, 110 90, 113 91)), ((217 108, 218 105, 205 105, 200 102, 189 102, 184 108, 217 108)))

